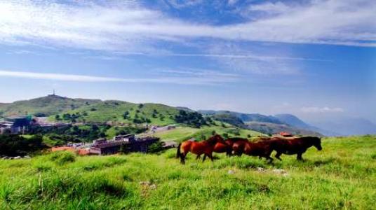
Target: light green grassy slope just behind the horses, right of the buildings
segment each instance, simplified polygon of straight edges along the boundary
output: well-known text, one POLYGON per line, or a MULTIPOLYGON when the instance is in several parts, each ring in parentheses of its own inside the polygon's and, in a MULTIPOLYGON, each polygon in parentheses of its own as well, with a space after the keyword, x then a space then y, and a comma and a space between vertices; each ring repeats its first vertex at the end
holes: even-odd
POLYGON ((167 130, 164 132, 158 132, 154 134, 155 137, 159 137, 162 141, 185 141, 187 139, 194 138, 196 140, 203 140, 208 139, 215 133, 223 135, 228 134, 229 137, 258 137, 260 136, 260 132, 255 132, 253 130, 245 130, 238 127, 234 127, 231 125, 226 124, 226 127, 222 126, 203 126, 201 128, 193 128, 193 127, 177 127, 173 130, 167 130))

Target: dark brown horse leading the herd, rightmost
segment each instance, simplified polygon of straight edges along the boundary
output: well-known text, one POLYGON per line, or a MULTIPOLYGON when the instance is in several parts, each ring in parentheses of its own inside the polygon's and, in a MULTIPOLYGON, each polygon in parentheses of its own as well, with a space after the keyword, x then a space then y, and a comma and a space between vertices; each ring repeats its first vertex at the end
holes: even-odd
POLYGON ((308 148, 314 146, 318 151, 321 151, 321 139, 318 137, 297 137, 297 138, 279 138, 274 137, 270 140, 271 148, 276 151, 276 158, 282 160, 280 156, 297 155, 297 160, 303 160, 302 154, 307 151, 308 148))

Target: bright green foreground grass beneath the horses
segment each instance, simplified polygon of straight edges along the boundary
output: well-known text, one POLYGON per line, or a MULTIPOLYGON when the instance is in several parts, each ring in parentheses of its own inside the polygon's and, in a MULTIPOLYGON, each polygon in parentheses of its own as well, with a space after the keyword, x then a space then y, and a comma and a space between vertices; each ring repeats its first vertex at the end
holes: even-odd
POLYGON ((282 158, 188 155, 180 165, 171 149, 0 160, 0 209, 375 209, 375 136, 323 139, 305 162, 282 158))

